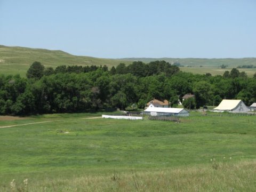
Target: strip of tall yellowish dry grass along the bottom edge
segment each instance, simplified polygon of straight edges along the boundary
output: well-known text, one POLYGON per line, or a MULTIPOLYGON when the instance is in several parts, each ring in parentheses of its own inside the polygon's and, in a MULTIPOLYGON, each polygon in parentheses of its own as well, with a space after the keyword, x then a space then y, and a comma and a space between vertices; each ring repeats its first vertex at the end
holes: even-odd
MULTIPOLYGON (((216 162, 215 162, 216 163, 216 162)), ((255 191, 256 161, 218 167, 193 166, 157 170, 125 170, 98 174, 59 175, 55 179, 15 178, 0 191, 255 191)))

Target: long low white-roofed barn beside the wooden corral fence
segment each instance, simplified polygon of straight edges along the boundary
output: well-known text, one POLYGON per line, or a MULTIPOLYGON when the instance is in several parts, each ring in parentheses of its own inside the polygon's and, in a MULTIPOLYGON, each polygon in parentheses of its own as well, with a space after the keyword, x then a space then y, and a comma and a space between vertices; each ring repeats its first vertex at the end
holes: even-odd
POLYGON ((182 108, 148 107, 144 114, 150 116, 189 116, 189 112, 182 108))

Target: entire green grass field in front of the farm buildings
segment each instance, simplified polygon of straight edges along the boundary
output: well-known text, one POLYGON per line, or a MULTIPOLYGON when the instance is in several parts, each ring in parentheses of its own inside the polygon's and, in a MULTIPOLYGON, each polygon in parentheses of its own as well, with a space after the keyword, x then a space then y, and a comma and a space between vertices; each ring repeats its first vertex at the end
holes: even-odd
POLYGON ((0 191, 256 188, 256 116, 92 118, 101 114, 0 117, 0 191))

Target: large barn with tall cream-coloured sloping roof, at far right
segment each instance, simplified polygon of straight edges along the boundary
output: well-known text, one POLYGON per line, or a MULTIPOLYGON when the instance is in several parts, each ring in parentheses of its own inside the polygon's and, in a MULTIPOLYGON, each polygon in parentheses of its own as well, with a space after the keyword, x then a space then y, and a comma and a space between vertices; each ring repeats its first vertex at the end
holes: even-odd
POLYGON ((247 112, 250 111, 250 108, 247 107, 242 100, 223 99, 220 105, 213 110, 247 112))

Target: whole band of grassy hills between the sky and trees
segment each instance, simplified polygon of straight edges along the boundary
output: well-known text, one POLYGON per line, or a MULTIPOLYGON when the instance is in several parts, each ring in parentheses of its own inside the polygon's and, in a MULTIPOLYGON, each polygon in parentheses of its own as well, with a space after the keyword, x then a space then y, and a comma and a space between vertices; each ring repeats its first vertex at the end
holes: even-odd
MULTIPOLYGON (((117 66, 123 62, 130 65, 132 61, 143 61, 148 63, 150 61, 165 60, 173 64, 180 63, 182 71, 212 75, 222 75, 225 70, 231 70, 237 66, 253 65, 256 66, 256 58, 241 58, 241 59, 197 59, 197 58, 122 58, 122 59, 102 59, 86 56, 76 56, 63 51, 52 51, 46 49, 31 49, 27 47, 18 46, 4 46, 0 45, 0 74, 20 74, 26 75, 26 71, 34 61, 41 62, 45 67, 57 67, 60 65, 106 65, 109 68, 117 66), (220 66, 227 66, 226 69, 221 69, 220 66)), ((256 72, 253 69, 239 69, 245 71, 249 76, 256 72)))

